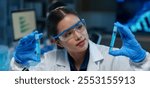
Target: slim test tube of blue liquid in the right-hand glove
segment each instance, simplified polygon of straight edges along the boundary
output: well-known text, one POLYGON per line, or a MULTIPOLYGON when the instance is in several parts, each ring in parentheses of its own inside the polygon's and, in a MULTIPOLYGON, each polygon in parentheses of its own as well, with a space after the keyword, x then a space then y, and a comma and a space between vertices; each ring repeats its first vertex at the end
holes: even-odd
POLYGON ((115 40, 116 40, 116 35, 117 35, 117 27, 114 26, 113 28, 113 33, 112 33, 112 37, 111 37, 111 42, 110 42, 110 47, 109 47, 109 51, 111 51, 114 47, 115 44, 115 40))

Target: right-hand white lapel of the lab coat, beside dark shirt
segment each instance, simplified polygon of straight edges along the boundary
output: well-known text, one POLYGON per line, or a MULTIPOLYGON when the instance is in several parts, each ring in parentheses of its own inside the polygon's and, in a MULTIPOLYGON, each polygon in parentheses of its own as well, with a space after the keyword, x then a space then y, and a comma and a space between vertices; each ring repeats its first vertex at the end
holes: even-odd
POLYGON ((97 71, 100 69, 101 61, 104 59, 100 50, 98 50, 97 45, 89 41, 90 44, 90 57, 88 64, 88 71, 97 71))

